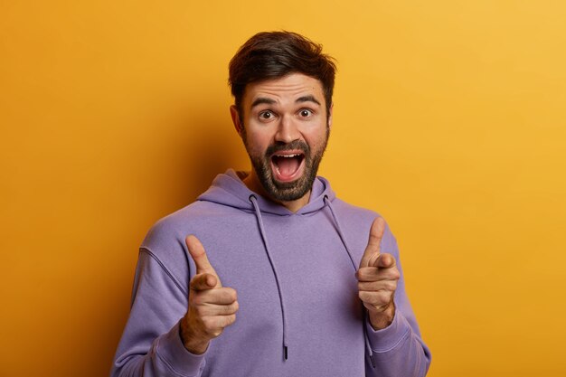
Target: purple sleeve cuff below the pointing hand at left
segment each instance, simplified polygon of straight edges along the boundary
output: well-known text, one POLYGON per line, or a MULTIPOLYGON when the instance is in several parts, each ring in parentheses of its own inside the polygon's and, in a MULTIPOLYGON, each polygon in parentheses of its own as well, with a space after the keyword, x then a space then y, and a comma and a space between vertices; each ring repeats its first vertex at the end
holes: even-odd
POLYGON ((206 364, 205 355, 208 350, 203 354, 194 354, 184 348, 179 335, 179 322, 173 326, 171 331, 159 339, 156 347, 156 353, 159 357, 168 364, 168 366, 183 376, 197 376, 206 364))

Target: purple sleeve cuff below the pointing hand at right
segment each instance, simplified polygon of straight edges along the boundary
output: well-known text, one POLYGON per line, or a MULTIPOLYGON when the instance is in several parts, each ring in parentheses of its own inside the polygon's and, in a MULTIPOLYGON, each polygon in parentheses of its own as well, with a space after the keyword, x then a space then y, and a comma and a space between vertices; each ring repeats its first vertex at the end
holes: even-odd
POLYGON ((397 347, 410 334, 410 325, 407 319, 396 310, 393 322, 381 330, 373 330, 369 316, 366 316, 365 326, 372 351, 386 353, 397 347))

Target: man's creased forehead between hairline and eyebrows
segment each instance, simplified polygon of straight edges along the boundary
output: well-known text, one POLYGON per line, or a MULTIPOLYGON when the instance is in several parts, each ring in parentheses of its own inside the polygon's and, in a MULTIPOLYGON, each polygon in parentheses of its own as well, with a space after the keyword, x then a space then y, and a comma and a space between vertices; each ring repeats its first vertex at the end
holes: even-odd
POLYGON ((259 98, 274 99, 278 103, 285 104, 307 95, 313 96, 321 104, 325 103, 320 80, 302 73, 290 73, 278 79, 248 84, 242 102, 244 108, 250 108, 250 105, 259 98))

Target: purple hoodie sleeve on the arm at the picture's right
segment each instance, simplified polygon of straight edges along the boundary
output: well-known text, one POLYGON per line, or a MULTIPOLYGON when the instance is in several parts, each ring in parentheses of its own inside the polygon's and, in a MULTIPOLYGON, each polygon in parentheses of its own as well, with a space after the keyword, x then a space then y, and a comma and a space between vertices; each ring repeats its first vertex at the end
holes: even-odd
POLYGON ((397 242, 391 232, 389 235, 390 237, 384 238, 382 249, 395 257, 397 267, 401 272, 394 297, 395 316, 391 325, 377 331, 373 330, 369 319, 366 320, 365 326, 375 366, 371 360, 367 360, 365 375, 422 377, 429 370, 430 352, 427 345, 420 339, 419 325, 417 325, 417 319, 405 292, 397 242))

